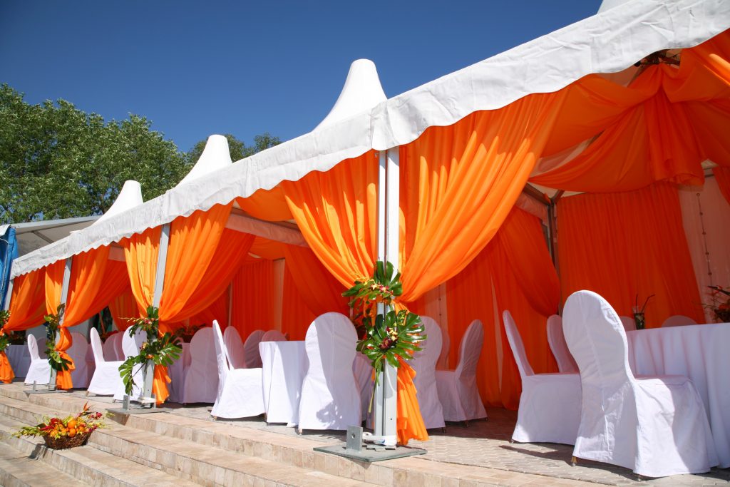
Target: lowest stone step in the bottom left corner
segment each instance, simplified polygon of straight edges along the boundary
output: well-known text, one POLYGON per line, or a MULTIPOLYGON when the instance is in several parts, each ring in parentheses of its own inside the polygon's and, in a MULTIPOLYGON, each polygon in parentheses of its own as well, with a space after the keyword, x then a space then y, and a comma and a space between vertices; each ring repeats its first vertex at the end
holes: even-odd
POLYGON ((4 487, 77 487, 83 483, 42 461, 29 458, 9 445, 0 443, 0 486, 4 487))

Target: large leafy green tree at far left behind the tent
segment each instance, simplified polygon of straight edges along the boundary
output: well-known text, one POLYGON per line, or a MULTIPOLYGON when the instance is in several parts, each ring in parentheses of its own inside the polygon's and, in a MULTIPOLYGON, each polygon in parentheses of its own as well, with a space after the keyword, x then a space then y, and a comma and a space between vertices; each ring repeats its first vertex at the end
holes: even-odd
POLYGON ((153 198, 183 178, 185 161, 144 117, 105 122, 0 85, 0 223, 99 215, 128 179, 153 198))

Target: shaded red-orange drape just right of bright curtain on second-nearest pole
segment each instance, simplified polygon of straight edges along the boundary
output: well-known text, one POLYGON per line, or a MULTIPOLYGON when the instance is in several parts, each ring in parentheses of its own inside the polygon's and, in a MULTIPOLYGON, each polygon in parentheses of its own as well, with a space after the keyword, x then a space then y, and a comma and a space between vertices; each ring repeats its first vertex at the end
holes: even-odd
MULTIPOLYGON (((177 320, 183 321, 194 315, 201 315, 200 318, 204 323, 212 324, 212 320, 216 319, 220 326, 228 326, 228 299, 226 299, 225 313, 220 312, 216 303, 221 294, 228 296, 228 285, 241 269, 254 238, 251 234, 231 229, 223 230, 210 265, 205 270, 193 295, 178 312, 177 320)), ((269 296, 266 299, 272 298, 269 296)))

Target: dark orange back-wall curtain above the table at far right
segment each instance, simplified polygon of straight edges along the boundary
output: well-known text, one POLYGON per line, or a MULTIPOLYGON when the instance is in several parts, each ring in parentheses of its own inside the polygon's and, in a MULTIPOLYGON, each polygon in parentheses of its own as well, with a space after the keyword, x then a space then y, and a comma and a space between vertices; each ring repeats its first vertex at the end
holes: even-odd
POLYGON ((562 295, 588 289, 619 315, 655 294, 648 327, 671 315, 702 323, 677 190, 657 183, 628 193, 581 194, 558 202, 562 295))

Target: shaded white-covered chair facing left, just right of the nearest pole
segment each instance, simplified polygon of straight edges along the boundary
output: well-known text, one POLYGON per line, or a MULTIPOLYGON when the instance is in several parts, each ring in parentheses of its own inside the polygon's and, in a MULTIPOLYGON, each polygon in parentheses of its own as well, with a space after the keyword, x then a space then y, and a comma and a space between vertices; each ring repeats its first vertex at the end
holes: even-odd
POLYGON ((461 339, 456 370, 436 371, 436 385, 446 421, 469 421, 487 417, 477 389, 477 363, 483 342, 482 322, 472 321, 461 339))

